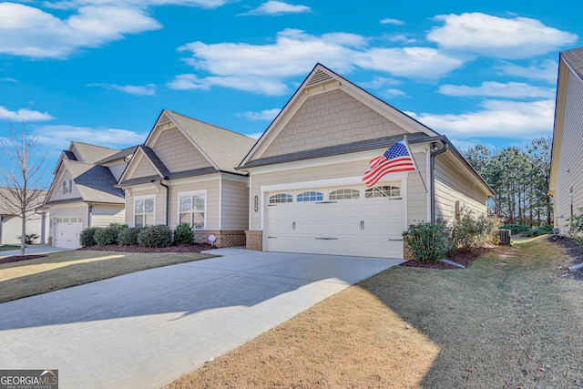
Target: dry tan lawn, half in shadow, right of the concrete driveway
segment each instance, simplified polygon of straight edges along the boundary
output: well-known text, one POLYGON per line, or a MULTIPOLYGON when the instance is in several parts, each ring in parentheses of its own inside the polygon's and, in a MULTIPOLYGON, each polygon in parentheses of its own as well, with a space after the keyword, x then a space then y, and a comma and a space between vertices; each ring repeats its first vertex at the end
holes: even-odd
POLYGON ((167 388, 581 387, 583 283, 556 276, 565 261, 539 239, 465 270, 396 267, 167 388))

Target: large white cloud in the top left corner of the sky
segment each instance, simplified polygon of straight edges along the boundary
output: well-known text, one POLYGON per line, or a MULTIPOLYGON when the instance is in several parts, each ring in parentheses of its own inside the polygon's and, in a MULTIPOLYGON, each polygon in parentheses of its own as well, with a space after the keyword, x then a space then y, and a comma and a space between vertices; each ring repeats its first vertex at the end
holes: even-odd
POLYGON ((160 28, 138 8, 113 5, 84 6, 76 15, 59 19, 32 6, 1 3, 0 15, 5 15, 0 24, 0 53, 36 58, 65 57, 81 47, 160 28))

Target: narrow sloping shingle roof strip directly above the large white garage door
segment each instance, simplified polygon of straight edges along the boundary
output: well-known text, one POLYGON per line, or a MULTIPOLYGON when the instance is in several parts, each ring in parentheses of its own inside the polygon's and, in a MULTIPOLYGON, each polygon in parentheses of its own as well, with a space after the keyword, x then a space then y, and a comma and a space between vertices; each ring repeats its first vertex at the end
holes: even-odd
MULTIPOLYGON (((427 140, 431 137, 424 133, 414 133, 407 135, 407 140, 410 143, 418 143, 424 140, 427 140)), ((369 139, 363 140, 360 142, 354 143, 347 143, 338 146, 330 146, 327 148, 315 148, 312 150, 305 150, 301 152, 295 152, 290 154, 282 154, 278 156, 272 156, 262 159, 254 159, 247 162, 245 165, 242 165, 240 169, 246 168, 253 168, 256 166, 263 166, 263 165, 271 165, 275 163, 284 163, 284 162, 292 162, 296 160, 302 159, 314 159, 314 158, 322 158, 322 157, 330 157, 345 153, 353 153, 358 151, 365 151, 371 150, 374 148, 386 148, 394 143, 398 142, 399 140, 403 140, 403 135, 396 135, 393 137, 385 137, 385 138, 377 138, 377 139, 369 139)))

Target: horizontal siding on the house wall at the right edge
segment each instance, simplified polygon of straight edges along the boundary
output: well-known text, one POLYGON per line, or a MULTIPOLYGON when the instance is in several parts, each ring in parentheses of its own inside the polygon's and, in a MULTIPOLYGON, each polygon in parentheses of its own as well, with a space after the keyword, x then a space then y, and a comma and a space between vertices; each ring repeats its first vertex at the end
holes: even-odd
POLYGON ((571 189, 573 212, 583 207, 583 83, 568 71, 567 97, 563 118, 563 136, 557 169, 555 219, 561 232, 568 232, 571 216, 571 189))

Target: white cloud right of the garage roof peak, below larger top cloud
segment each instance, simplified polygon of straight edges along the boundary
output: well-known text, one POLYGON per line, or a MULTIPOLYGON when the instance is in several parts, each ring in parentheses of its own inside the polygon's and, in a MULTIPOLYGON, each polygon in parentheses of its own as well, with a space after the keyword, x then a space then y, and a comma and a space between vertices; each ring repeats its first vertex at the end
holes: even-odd
POLYGON ((354 62, 369 70, 382 70, 394 76, 439 78, 464 65, 430 47, 371 48, 355 55, 354 62))

